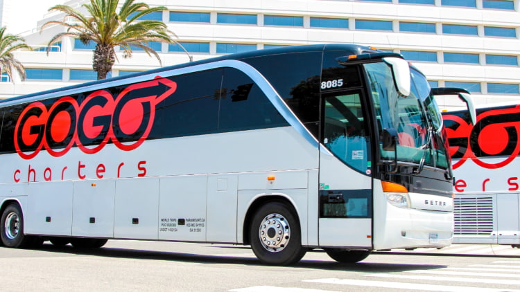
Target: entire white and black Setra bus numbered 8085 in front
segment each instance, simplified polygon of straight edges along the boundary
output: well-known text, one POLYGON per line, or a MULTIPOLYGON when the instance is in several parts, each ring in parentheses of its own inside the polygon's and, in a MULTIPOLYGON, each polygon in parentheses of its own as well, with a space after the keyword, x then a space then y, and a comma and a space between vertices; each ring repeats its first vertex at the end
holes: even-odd
POLYGON ((4 246, 243 244, 293 264, 451 244, 440 111, 395 53, 225 55, 3 100, 0 117, 4 246))

